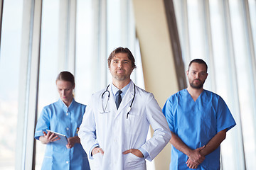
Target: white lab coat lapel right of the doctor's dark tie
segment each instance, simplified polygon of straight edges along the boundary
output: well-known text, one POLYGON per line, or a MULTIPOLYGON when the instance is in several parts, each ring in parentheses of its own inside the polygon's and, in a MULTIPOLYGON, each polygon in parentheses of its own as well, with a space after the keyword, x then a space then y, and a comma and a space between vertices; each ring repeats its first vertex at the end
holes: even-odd
POLYGON ((117 116, 122 112, 122 113, 126 113, 127 112, 127 108, 129 107, 128 105, 130 104, 130 102, 132 101, 132 98, 134 97, 134 83, 131 80, 131 84, 129 86, 129 89, 127 90, 126 94, 124 95, 124 98, 122 99, 120 106, 117 110, 117 114, 115 116, 115 118, 117 118, 117 116))

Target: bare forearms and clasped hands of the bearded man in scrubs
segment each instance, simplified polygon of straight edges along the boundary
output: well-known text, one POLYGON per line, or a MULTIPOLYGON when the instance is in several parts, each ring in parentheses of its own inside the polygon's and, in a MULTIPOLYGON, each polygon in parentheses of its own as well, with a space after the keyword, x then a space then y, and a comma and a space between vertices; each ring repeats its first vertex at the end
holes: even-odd
POLYGON ((174 132, 171 132, 170 143, 188 156, 187 166, 191 169, 196 169, 203 162, 205 156, 217 149, 220 143, 225 140, 226 132, 226 129, 221 130, 205 146, 197 149, 190 149, 174 132))

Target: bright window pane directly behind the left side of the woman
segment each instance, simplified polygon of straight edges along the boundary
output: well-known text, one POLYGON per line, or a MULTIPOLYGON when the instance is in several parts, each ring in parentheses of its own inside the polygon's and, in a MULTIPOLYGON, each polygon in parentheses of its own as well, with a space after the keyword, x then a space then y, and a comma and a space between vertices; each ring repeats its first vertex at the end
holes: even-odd
MULTIPOLYGON (((42 5, 38 117, 44 106, 58 100, 55 79, 58 75, 59 0, 44 0, 42 5)), ((45 148, 46 145, 36 140, 36 169, 41 169, 45 148)))

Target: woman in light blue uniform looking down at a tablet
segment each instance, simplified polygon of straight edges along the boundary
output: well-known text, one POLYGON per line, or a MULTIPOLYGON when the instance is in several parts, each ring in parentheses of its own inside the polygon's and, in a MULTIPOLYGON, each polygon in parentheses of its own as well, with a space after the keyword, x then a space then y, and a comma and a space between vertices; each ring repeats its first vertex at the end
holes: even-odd
POLYGON ((43 108, 36 125, 35 138, 46 144, 46 154, 42 169, 90 169, 87 154, 80 144, 78 130, 85 113, 85 105, 73 98, 75 79, 70 72, 60 72, 56 79, 60 99, 43 108), (59 140, 52 130, 68 138, 67 145, 58 144, 59 140))

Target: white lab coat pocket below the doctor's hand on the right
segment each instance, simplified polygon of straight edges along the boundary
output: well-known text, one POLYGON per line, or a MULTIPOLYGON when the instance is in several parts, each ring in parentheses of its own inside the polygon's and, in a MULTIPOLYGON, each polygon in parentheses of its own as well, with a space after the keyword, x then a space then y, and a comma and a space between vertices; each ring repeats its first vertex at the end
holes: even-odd
POLYGON ((125 169, 146 169, 146 162, 144 158, 137 157, 136 155, 127 154, 125 169))

